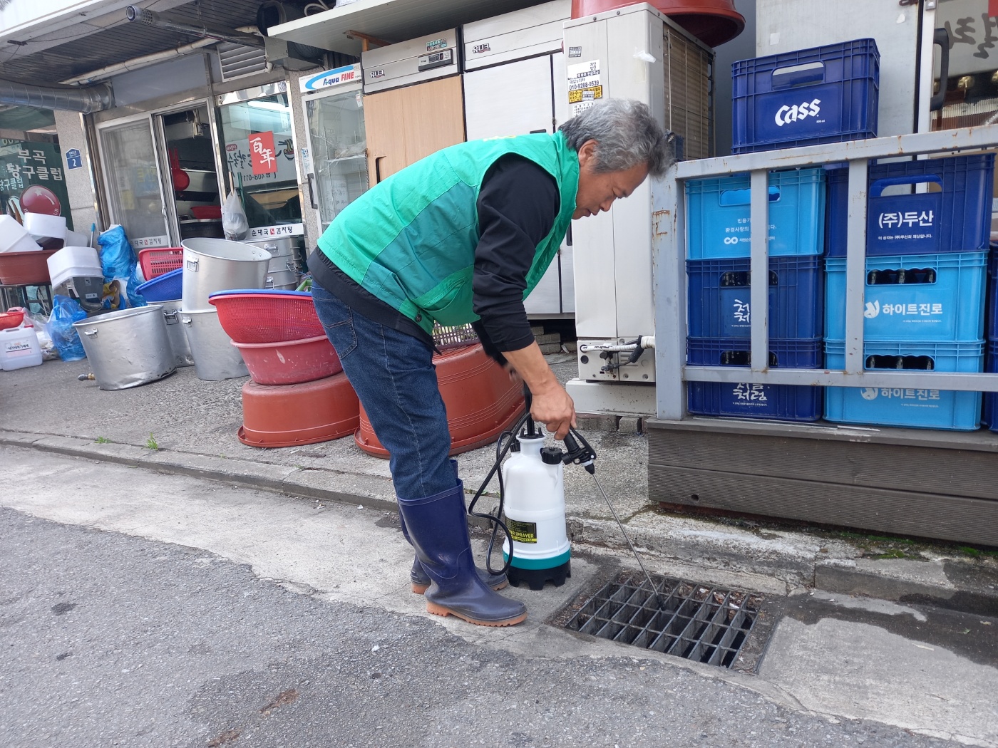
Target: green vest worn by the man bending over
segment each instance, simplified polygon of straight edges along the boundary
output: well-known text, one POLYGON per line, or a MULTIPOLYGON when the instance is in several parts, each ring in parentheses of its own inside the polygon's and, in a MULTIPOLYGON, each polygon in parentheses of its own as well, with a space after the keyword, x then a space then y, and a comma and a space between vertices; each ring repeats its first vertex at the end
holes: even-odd
POLYGON ((451 146, 393 174, 347 205, 318 240, 322 252, 365 290, 432 332, 472 322, 471 276, 478 245, 478 191, 507 154, 541 167, 561 207, 534 250, 524 297, 558 252, 575 211, 579 158, 561 133, 451 146))

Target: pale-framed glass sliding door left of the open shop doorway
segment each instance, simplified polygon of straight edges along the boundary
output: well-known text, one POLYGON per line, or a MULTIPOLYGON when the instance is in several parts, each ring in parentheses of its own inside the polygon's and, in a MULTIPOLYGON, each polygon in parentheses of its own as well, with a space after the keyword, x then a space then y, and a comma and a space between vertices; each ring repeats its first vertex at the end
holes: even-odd
POLYGON ((104 128, 100 139, 111 219, 137 250, 170 246, 151 121, 104 128))

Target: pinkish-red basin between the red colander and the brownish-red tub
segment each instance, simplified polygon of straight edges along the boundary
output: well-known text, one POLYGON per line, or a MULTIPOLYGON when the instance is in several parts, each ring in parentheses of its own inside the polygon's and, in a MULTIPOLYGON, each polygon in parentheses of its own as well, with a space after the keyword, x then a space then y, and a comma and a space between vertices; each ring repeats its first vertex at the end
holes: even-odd
POLYGON ((343 370, 325 335, 282 343, 237 343, 256 384, 301 384, 343 370))

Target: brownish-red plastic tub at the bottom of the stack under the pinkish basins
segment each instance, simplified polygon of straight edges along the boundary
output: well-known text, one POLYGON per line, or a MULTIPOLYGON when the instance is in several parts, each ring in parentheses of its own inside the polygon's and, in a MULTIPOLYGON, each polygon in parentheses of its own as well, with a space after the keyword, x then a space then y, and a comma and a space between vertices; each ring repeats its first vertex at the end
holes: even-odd
POLYGON ((303 384, 243 385, 243 426, 250 447, 294 447, 352 434, 357 428, 356 393, 345 374, 303 384))

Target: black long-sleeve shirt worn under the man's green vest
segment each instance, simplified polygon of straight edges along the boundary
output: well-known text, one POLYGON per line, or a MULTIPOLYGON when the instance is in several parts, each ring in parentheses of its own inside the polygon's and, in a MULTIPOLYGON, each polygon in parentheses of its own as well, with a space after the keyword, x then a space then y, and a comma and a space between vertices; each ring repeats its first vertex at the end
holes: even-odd
MULTIPOLYGON (((502 360, 533 342, 523 308, 527 272, 537 245, 551 230, 561 201, 554 178, 515 154, 504 156, 485 175, 478 192, 479 240, 472 275, 475 331, 486 351, 502 360)), ((323 288, 368 319, 432 345, 419 325, 354 282, 316 248, 308 269, 323 288)))

